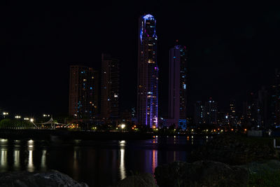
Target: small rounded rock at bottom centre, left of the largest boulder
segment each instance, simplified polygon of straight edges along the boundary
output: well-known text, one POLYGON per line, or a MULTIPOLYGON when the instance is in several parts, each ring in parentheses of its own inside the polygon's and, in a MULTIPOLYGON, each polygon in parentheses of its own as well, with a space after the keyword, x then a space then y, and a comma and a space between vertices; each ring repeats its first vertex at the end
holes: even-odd
POLYGON ((156 187, 152 174, 143 173, 132 176, 118 182, 117 187, 156 187))

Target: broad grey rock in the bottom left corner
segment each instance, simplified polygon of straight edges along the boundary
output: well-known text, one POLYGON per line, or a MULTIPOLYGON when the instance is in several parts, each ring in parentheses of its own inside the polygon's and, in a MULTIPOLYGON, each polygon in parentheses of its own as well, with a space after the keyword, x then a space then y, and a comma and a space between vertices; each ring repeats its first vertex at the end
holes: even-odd
POLYGON ((88 187, 70 176, 56 170, 49 172, 4 172, 0 173, 1 187, 88 187))

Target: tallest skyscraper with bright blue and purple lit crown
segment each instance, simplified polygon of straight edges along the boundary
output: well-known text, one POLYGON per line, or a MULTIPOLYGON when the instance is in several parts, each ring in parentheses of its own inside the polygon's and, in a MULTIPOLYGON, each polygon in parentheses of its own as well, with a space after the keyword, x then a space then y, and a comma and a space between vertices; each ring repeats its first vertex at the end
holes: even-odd
POLYGON ((158 127, 157 35, 153 15, 139 18, 137 120, 158 127))

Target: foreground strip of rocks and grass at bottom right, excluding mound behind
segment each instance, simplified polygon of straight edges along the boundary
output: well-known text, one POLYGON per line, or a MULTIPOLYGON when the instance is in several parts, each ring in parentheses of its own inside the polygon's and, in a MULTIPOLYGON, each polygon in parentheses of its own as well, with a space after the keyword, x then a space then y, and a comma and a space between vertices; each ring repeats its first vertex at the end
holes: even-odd
POLYGON ((128 176, 117 187, 280 186, 280 161, 265 160, 231 166, 210 160, 176 161, 155 168, 152 174, 128 176))

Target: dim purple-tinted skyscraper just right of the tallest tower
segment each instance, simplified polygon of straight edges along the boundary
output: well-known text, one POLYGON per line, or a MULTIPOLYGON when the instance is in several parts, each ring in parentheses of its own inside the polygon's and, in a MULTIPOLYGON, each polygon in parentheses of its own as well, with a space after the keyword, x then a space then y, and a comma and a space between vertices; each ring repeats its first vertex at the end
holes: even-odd
POLYGON ((186 46, 169 50, 169 123, 186 129, 186 46))

